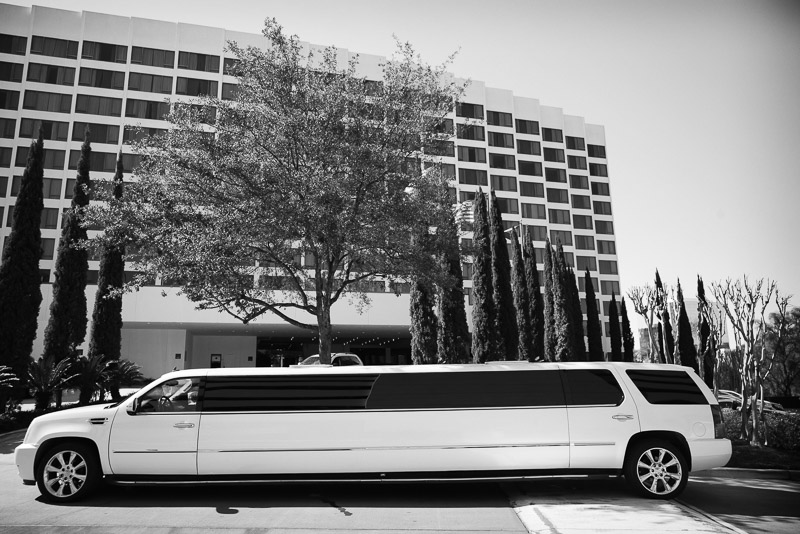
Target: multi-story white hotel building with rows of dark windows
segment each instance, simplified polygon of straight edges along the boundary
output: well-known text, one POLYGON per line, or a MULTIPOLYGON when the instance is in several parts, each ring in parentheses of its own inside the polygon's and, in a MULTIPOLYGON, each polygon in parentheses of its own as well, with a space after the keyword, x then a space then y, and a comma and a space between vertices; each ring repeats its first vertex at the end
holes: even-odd
MULTIPOLYGON (((85 125, 92 131, 92 179, 110 180, 120 151, 126 179, 135 179, 131 126, 167 128, 161 117, 169 102, 200 94, 231 97, 236 78, 226 74, 232 59, 228 41, 265 45, 260 34, 222 28, 0 4, 0 243, 10 232, 30 141, 40 127, 46 139, 44 301, 34 357, 42 350, 59 214, 69 206, 85 125)), ((351 55, 340 54, 343 61, 351 55)), ((359 54, 360 74, 379 79, 381 61, 359 54)), ((452 120, 456 135, 442 156, 458 200, 472 200, 479 187, 492 189, 506 225, 527 227, 539 247, 547 236, 560 241, 576 272, 591 272, 607 335, 608 304, 612 293, 619 295, 619 275, 603 127, 482 82, 469 85, 452 120), (467 121, 470 126, 459 127, 467 121)), ((91 310, 98 262, 90 261, 89 268, 91 310)), ((468 264, 464 276, 469 293, 468 264)), ((583 290, 582 276, 579 282, 583 290)), ((370 290, 367 309, 347 300, 334 306, 334 350, 356 352, 368 363, 408 362, 408 295, 396 296, 380 283, 370 290)), ((465 298, 469 301, 469 294, 465 298)), ((126 294, 123 321, 123 357, 142 365, 147 376, 212 361, 287 364, 316 352, 312 335, 275 316, 238 324, 194 309, 177 288, 143 287, 126 294)), ((607 338, 605 343, 608 350, 607 338)))

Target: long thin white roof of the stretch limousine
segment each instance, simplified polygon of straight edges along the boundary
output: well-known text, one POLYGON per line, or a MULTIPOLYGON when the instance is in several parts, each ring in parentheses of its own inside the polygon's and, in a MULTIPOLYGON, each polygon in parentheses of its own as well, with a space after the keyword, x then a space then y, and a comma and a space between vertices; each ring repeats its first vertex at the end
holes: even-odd
POLYGON ((387 374, 387 373, 458 373, 468 371, 521 371, 523 369, 652 369, 691 371, 691 367, 659 363, 628 362, 541 362, 498 361, 483 364, 435 364, 435 365, 307 365, 296 367, 226 367, 215 369, 186 369, 165 374, 162 378, 189 376, 265 376, 307 374, 387 374))

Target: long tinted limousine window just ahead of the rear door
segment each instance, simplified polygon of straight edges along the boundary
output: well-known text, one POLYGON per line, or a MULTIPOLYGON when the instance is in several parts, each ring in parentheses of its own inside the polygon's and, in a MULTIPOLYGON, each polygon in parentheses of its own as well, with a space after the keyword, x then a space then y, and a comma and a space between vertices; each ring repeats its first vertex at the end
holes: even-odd
POLYGON ((369 396, 372 410, 563 406, 558 371, 478 371, 381 375, 369 396))

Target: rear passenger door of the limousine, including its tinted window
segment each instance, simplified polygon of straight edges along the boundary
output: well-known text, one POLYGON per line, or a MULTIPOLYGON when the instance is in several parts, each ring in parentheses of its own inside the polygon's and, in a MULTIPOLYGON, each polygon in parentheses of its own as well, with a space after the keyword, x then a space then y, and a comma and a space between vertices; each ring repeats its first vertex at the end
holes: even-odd
POLYGON ((571 469, 617 469, 639 432, 639 415, 609 369, 563 371, 569 413, 571 469))

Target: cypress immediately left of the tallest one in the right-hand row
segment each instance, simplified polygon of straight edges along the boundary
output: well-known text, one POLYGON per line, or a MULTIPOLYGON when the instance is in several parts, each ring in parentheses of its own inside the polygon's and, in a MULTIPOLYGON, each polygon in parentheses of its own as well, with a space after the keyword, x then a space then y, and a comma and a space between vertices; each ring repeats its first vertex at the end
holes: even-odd
POLYGON ((469 327, 464 309, 464 281, 461 278, 461 254, 454 218, 448 218, 440 226, 439 236, 446 240, 441 261, 452 285, 439 291, 437 359, 441 363, 468 363, 469 327))

